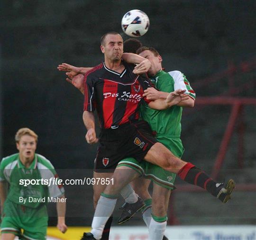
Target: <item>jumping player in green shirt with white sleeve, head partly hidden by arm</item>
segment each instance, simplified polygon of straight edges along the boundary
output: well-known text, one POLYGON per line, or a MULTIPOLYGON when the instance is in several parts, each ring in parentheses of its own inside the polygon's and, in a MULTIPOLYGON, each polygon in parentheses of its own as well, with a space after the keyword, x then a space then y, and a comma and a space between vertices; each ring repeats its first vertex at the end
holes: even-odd
MULTIPOLYGON (((161 111, 151 109, 144 103, 140 107, 140 116, 149 123, 151 129, 155 132, 156 139, 172 151, 176 157, 181 158, 184 150, 180 139, 182 108, 194 106, 195 93, 180 71, 165 72, 162 69, 162 58, 154 48, 141 47, 137 50, 137 53, 140 53, 139 55, 149 59, 152 63, 148 74, 155 88, 146 89, 144 96, 148 99, 166 98, 167 94, 175 89, 186 89, 185 94, 191 97, 178 105, 161 111)), ((151 215, 147 214, 145 222, 147 222, 149 231, 151 231, 150 235, 154 234, 153 238, 160 239, 161 234, 159 232, 157 235, 152 233, 154 231, 153 226, 156 225, 156 228, 161 229, 162 232, 165 230, 168 201, 171 189, 174 189, 176 174, 146 161, 138 162, 133 158, 121 160, 118 167, 121 166, 133 168, 144 178, 153 180, 152 219, 151 215)), ((134 181, 139 185, 140 179, 137 178, 134 181)), ((135 189, 135 191, 141 193, 143 189, 140 191, 135 189)), ((150 199, 145 202, 146 204, 147 202, 150 203, 150 199)), ((128 216, 127 210, 131 207, 130 205, 125 204, 126 209, 119 221, 128 216)))

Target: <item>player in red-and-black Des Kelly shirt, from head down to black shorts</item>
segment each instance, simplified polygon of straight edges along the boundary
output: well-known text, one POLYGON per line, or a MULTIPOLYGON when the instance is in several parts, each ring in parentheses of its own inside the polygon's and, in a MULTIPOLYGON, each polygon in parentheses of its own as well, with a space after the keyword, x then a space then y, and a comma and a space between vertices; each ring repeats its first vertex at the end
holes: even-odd
POLYGON ((84 76, 83 121, 88 130, 87 142, 98 142, 92 113, 97 109, 101 136, 94 170, 113 172, 119 161, 128 156, 142 161, 157 142, 148 123, 138 121, 140 102, 145 100, 149 107, 161 110, 186 97, 181 96, 182 90, 177 90, 173 96, 170 95, 168 103, 164 99, 144 99, 144 90, 151 87, 150 80, 136 73, 141 69, 146 72, 151 63, 144 58, 141 58, 144 63, 142 61, 136 67, 123 62, 123 42, 118 33, 111 32, 102 37, 101 51, 105 61, 84 76))

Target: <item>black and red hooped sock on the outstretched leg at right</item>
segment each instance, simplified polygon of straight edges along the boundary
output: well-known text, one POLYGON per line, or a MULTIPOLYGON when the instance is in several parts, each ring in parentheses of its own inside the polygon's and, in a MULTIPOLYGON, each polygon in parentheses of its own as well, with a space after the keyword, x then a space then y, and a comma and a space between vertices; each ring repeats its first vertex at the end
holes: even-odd
POLYGON ((213 196, 218 194, 216 193, 216 182, 190 162, 179 170, 178 176, 187 183, 206 189, 213 196))

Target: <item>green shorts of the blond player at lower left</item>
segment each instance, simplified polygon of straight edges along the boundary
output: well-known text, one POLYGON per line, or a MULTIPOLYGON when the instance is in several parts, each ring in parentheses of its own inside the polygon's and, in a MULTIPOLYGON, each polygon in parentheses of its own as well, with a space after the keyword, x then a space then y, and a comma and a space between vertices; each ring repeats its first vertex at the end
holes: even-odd
POLYGON ((1 234, 12 233, 22 240, 46 240, 48 216, 46 205, 24 207, 8 199, 4 203, 1 234), (23 230, 23 234, 21 233, 23 230))

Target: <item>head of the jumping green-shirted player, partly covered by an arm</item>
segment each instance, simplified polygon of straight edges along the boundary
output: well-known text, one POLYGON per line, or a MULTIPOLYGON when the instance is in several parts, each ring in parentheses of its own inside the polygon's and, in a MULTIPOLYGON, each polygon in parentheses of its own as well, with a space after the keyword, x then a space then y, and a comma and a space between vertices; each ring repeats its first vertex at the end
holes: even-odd
POLYGON ((148 70, 149 75, 155 76, 155 74, 162 69, 162 57, 154 47, 143 46, 140 47, 136 53, 151 62, 151 67, 148 70))

